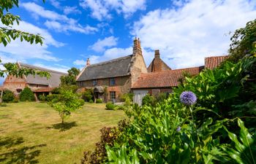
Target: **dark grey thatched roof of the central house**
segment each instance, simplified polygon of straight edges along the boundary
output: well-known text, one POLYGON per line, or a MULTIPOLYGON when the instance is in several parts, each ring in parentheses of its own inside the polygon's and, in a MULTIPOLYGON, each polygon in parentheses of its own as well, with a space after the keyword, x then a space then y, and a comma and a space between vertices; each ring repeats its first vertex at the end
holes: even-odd
POLYGON ((102 63, 86 66, 77 81, 90 79, 105 79, 110 77, 124 77, 130 74, 132 55, 116 58, 102 63))

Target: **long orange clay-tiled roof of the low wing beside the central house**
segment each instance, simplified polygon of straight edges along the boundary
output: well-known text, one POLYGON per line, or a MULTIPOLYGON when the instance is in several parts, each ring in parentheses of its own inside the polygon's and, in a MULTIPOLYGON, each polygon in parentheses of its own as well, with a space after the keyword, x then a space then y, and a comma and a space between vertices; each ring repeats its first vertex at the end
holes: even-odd
POLYGON ((190 75, 196 75, 199 74, 202 69, 203 66, 140 74, 140 77, 132 88, 176 87, 179 84, 179 79, 183 77, 183 72, 187 72, 190 75))

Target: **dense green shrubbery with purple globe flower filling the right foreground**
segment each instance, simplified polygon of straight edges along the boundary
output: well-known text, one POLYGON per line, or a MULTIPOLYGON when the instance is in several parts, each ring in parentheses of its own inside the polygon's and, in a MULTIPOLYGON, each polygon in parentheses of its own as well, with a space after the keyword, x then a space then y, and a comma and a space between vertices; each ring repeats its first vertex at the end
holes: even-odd
POLYGON ((256 20, 217 69, 185 77, 161 102, 127 106, 82 163, 256 163, 256 20))

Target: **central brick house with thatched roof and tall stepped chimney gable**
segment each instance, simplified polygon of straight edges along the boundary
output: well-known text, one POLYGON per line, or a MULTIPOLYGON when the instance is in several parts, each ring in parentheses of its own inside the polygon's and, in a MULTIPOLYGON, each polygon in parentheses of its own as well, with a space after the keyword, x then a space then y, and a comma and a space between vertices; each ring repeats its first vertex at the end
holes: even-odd
POLYGON ((140 74, 147 68, 140 47, 140 39, 135 38, 133 52, 121 58, 86 66, 77 77, 80 89, 93 89, 95 98, 118 101, 124 93, 130 93, 140 74))

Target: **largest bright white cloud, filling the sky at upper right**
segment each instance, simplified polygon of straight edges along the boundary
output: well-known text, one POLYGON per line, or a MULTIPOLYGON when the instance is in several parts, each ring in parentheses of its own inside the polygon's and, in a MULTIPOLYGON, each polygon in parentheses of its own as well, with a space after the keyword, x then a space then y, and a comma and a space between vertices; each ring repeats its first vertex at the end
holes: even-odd
MULTIPOLYGON (((148 12, 132 27, 147 49, 159 49, 172 69, 204 64, 204 57, 227 53, 229 31, 256 17, 256 1, 176 1, 178 9, 148 12)), ((148 60, 148 59, 146 59, 148 60)))

